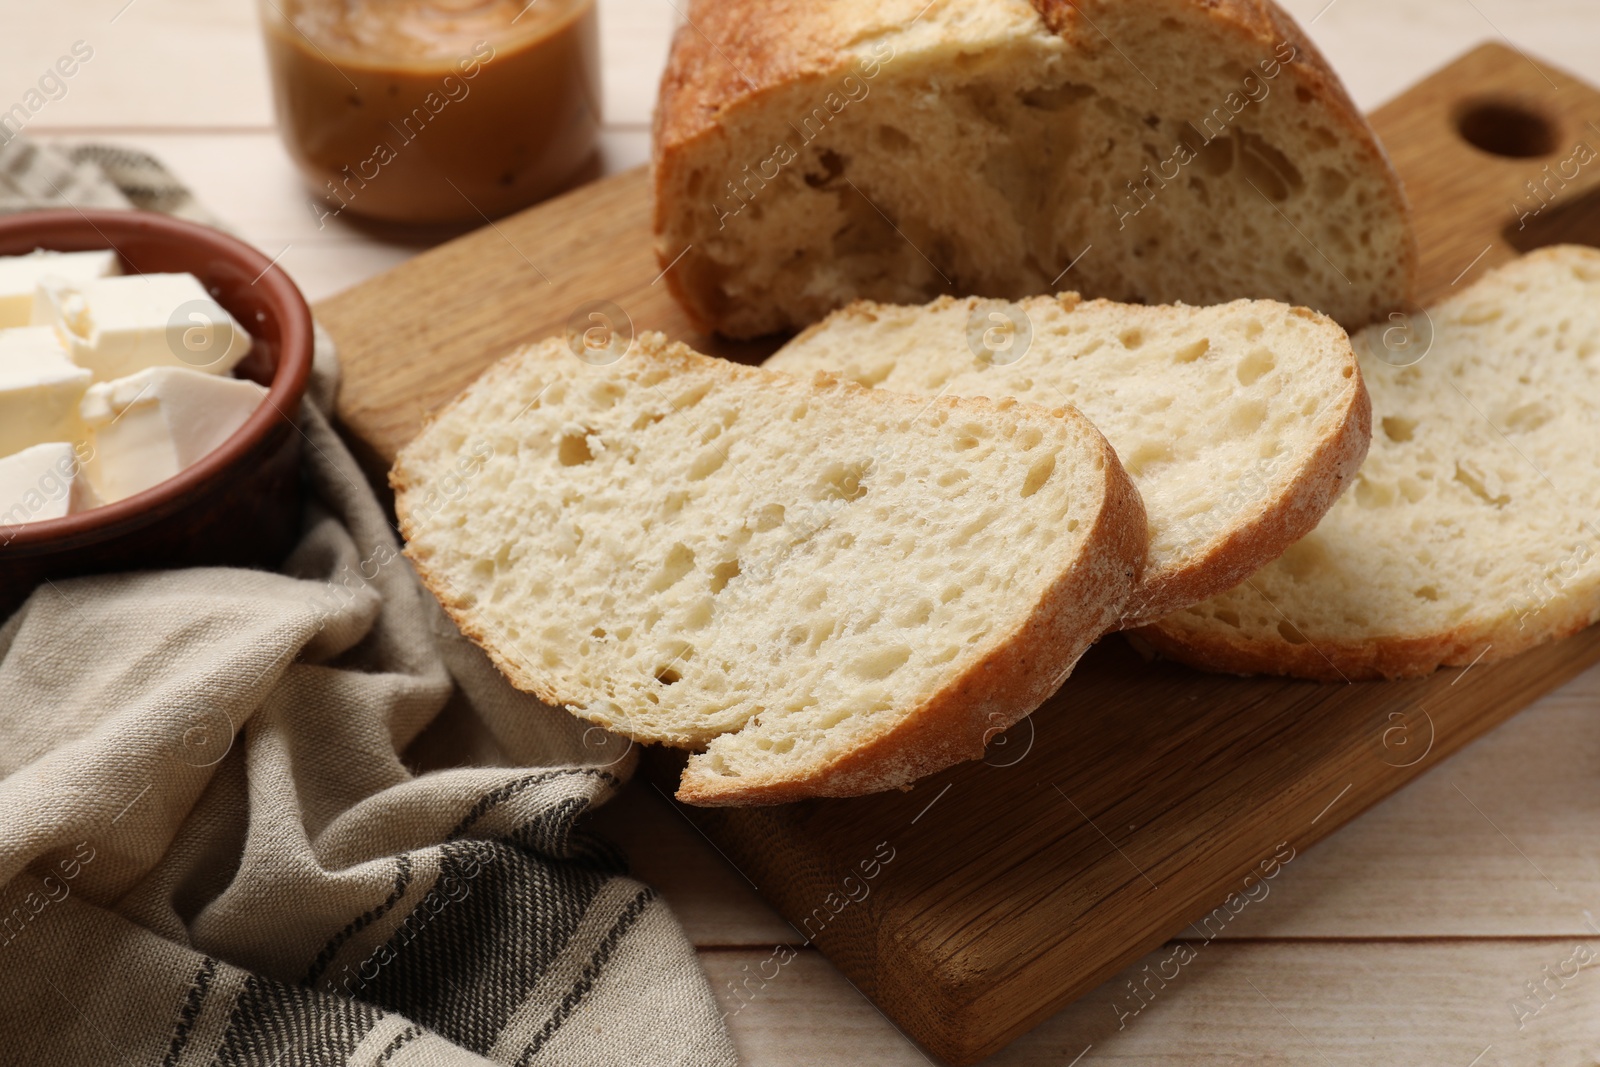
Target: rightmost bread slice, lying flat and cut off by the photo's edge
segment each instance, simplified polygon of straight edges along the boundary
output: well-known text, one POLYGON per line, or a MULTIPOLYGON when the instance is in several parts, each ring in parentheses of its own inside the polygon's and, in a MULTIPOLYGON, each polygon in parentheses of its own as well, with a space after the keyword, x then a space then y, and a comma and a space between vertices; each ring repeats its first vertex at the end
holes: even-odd
POLYGON ((1504 659, 1600 619, 1600 251, 1531 253, 1355 347, 1378 430, 1352 490, 1238 589, 1142 630, 1150 643, 1354 681, 1504 659))

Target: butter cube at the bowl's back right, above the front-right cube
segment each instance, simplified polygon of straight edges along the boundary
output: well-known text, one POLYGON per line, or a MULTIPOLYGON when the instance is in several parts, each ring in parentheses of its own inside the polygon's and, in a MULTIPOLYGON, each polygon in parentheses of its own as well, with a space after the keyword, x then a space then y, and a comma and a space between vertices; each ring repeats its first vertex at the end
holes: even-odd
POLYGON ((250 352, 250 334, 192 274, 46 278, 34 320, 54 326, 72 360, 98 382, 150 366, 227 374, 250 352))

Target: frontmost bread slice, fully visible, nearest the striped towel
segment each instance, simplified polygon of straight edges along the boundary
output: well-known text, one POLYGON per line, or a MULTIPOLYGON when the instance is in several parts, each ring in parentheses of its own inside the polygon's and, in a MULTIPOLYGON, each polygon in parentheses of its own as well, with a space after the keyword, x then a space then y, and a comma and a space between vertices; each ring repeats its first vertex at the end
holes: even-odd
POLYGON ((502 360, 390 474, 406 553, 510 681, 702 749, 678 797, 904 785, 1115 624, 1144 509, 1082 414, 792 378, 643 334, 502 360))

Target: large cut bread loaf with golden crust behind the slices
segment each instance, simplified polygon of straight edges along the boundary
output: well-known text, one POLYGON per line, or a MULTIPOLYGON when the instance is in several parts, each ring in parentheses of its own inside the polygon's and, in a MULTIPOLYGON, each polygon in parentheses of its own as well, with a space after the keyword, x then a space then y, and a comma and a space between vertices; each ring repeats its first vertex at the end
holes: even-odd
POLYGON ((1064 285, 1355 328, 1416 266, 1376 136, 1264 0, 694 0, 653 150, 667 283, 734 338, 1064 285))

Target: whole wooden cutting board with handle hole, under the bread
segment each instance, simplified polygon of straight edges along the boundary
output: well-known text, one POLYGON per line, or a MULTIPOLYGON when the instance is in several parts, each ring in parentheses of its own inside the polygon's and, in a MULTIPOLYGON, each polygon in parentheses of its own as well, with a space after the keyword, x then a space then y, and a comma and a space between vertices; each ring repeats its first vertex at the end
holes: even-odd
MULTIPOLYGON (((1539 245, 1600 245, 1600 162, 1576 163, 1600 149, 1600 93, 1574 78, 1485 45, 1373 123, 1416 206, 1424 302, 1539 245)), ((648 216, 645 173, 629 171, 323 301, 339 414, 373 470, 483 366, 592 301, 634 330, 762 358, 770 344, 688 326, 648 216)), ((982 763, 909 792, 690 814, 797 944, 970 1064, 1163 941, 1216 936, 1285 857, 1597 661, 1590 629, 1506 664, 1318 685, 1208 677, 1115 638, 982 763)), ((670 784, 672 760, 651 773, 670 784)))

